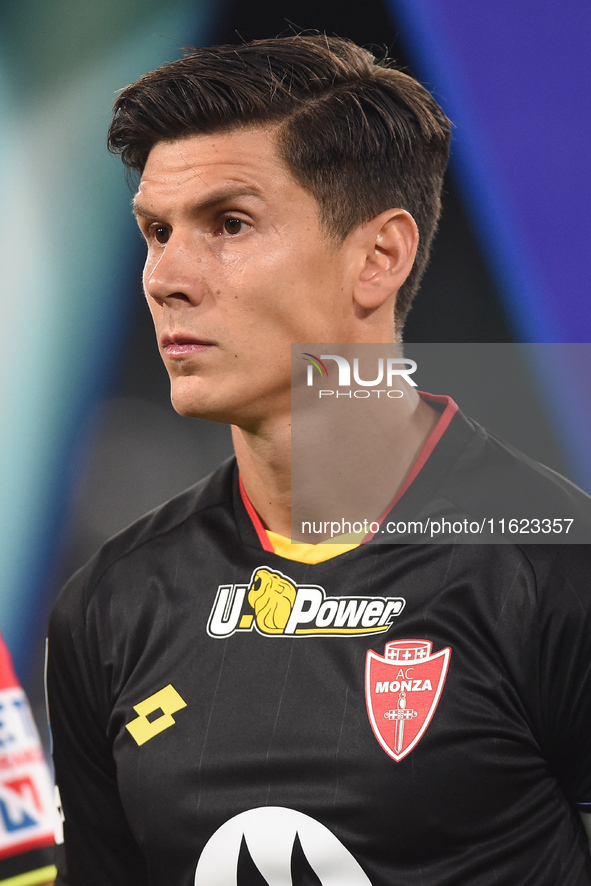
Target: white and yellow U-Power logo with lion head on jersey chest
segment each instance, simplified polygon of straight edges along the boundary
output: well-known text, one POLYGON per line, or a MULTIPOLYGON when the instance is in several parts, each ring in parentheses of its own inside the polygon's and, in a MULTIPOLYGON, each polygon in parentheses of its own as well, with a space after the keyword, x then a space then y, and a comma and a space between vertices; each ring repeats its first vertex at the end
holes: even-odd
POLYGON ((402 597, 329 597, 318 585, 297 585, 265 566, 248 584, 220 585, 207 633, 229 637, 256 630, 265 636, 381 634, 404 609, 402 597))

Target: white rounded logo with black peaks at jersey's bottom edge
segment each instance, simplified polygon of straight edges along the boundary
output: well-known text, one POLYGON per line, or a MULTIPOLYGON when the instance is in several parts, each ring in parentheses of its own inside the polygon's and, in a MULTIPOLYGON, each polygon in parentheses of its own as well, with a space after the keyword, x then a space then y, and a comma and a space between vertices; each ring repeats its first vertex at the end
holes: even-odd
POLYGON ((241 812, 207 842, 195 886, 371 886, 340 840, 324 825, 283 806, 241 812))

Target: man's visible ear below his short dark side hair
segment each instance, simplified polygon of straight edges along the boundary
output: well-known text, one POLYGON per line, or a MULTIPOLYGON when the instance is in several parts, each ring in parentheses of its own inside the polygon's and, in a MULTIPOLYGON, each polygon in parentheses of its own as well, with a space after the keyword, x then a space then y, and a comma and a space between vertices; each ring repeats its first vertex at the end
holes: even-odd
POLYGON ((410 274, 419 243, 417 224, 405 209, 388 209, 358 228, 360 271, 353 297, 374 311, 396 293, 410 274))

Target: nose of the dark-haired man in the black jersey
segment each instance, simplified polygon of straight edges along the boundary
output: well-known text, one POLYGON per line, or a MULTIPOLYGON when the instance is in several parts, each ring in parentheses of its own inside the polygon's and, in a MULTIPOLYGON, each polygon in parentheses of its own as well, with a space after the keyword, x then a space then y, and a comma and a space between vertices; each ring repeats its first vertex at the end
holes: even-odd
POLYGON ((195 249, 171 234, 158 251, 148 252, 143 275, 146 297, 170 307, 178 302, 200 304, 207 291, 201 266, 195 249))

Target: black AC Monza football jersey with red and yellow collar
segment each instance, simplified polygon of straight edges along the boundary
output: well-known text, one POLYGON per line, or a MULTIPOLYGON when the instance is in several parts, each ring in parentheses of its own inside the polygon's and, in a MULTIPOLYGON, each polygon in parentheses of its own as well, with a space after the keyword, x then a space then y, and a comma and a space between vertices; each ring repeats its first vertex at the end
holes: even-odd
MULTIPOLYGON (((455 415, 408 492, 477 497, 486 445, 455 415)), ((226 463, 57 602, 57 883, 590 886, 590 550, 288 560, 226 463)))

